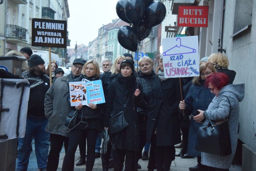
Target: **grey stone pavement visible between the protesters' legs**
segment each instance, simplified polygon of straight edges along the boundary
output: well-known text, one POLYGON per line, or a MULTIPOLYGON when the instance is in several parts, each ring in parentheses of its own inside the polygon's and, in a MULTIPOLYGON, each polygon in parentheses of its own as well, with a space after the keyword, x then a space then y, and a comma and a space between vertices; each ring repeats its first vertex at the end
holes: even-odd
MULTIPOLYGON (((30 160, 28 164, 28 171, 38 171, 37 163, 36 163, 36 154, 34 151, 34 140, 32 141, 32 148, 33 152, 30 153, 30 160)), ((50 147, 49 147, 50 151, 50 147)), ((176 149, 176 151, 180 151, 180 149, 176 149)), ((62 163, 65 156, 65 150, 64 146, 62 147, 62 151, 60 152, 60 160, 59 160, 59 166, 58 171, 61 171, 62 169, 62 163)), ((79 149, 76 150, 75 154, 75 164, 79 161, 79 149)), ((147 171, 148 166, 148 160, 143 161, 142 159, 139 160, 139 164, 141 165, 141 169, 138 169, 138 171, 147 171)), ((17 165, 17 160, 16 160, 17 165)), ((197 159, 182 159, 181 157, 175 157, 175 160, 172 161, 171 169, 170 171, 189 171, 189 167, 194 167, 197 165, 197 159)), ((113 171, 114 169, 109 169, 109 171, 113 171)), ((241 166, 232 166, 230 171, 242 171, 241 166)), ((76 166, 74 165, 74 171, 85 171, 85 165, 82 166, 76 166)), ((101 158, 95 159, 93 171, 102 171, 102 165, 101 165, 101 158)), ((156 171, 156 170, 155 170, 156 171)))

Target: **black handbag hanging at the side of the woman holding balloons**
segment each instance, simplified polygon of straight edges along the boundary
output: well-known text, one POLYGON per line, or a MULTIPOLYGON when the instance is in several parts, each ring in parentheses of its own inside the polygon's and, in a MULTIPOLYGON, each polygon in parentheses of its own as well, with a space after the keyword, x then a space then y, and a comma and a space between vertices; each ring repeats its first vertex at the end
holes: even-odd
MULTIPOLYGON (((129 98, 130 96, 127 99, 126 105, 124 105, 124 110, 126 109, 129 98)), ((108 119, 108 133, 110 135, 113 135, 122 131, 127 126, 128 126, 128 123, 125 119, 124 111, 120 111, 119 113, 117 113, 116 115, 108 119)))

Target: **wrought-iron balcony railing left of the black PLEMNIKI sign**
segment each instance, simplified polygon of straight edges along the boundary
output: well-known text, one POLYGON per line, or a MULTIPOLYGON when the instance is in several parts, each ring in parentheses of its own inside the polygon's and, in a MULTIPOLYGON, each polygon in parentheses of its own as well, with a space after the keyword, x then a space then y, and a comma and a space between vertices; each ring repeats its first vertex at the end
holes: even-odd
POLYGON ((6 36, 11 38, 17 38, 21 40, 26 40, 26 31, 25 28, 16 25, 6 25, 6 36))

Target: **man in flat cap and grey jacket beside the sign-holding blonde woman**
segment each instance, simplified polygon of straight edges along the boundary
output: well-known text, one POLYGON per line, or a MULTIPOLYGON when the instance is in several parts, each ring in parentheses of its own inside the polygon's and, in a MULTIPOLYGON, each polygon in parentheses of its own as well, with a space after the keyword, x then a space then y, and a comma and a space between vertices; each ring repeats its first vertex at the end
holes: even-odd
POLYGON ((71 67, 71 73, 56 79, 45 95, 44 110, 48 119, 46 131, 50 133, 51 149, 48 155, 47 170, 58 169, 60 151, 64 143, 65 151, 68 148, 68 133, 65 126, 66 117, 71 112, 69 82, 78 78, 86 60, 75 59, 71 67))

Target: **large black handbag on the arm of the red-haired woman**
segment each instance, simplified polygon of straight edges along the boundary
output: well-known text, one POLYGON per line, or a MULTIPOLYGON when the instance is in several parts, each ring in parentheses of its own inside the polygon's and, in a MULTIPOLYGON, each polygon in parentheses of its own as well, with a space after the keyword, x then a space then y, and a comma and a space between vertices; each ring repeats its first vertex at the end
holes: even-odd
MULTIPOLYGON (((230 104, 229 99, 228 102, 230 104)), ((230 117, 230 112, 231 104, 228 119, 230 117)), ((205 113, 205 115, 209 119, 209 123, 199 127, 198 129, 196 137, 196 150, 219 156, 230 155, 232 153, 232 149, 228 119, 212 123, 207 113, 205 113)))

